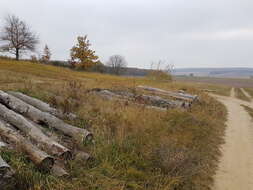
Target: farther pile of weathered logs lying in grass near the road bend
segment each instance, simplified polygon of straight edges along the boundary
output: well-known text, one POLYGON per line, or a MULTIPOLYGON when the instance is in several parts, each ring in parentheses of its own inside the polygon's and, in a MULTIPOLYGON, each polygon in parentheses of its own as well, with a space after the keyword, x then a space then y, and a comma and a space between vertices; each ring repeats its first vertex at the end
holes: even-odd
POLYGON ((184 91, 172 92, 148 86, 138 86, 137 89, 152 92, 152 95, 100 88, 92 89, 90 92, 95 92, 96 94, 109 100, 127 100, 137 105, 145 105, 148 108, 161 111, 178 107, 187 109, 199 99, 197 95, 191 95, 185 93, 184 91), (161 95, 163 97, 161 97, 161 95))

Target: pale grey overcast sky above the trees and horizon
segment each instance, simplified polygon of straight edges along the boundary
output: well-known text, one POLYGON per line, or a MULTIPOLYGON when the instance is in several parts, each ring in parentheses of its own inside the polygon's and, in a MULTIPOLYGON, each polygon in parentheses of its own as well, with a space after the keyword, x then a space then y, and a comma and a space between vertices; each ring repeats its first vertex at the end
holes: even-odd
POLYGON ((8 14, 57 60, 88 34, 103 62, 120 54, 141 68, 159 59, 176 68, 253 67, 253 0, 0 0, 0 20, 8 14))

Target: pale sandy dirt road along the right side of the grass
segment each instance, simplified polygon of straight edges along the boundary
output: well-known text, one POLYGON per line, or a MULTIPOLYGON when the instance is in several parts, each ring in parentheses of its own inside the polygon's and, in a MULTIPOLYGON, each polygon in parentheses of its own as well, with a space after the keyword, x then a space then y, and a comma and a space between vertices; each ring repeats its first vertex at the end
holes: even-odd
POLYGON ((253 190, 253 122, 241 104, 253 105, 231 92, 231 97, 215 95, 228 109, 228 127, 213 190, 253 190))

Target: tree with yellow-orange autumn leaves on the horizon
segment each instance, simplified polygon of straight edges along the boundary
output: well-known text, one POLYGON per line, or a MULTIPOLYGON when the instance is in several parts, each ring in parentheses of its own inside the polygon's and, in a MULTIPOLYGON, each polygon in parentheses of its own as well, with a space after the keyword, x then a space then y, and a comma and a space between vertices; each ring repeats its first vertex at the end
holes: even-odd
POLYGON ((90 49, 90 46, 87 35, 77 37, 77 44, 70 50, 71 61, 76 63, 75 67, 87 70, 100 63, 98 56, 90 49))

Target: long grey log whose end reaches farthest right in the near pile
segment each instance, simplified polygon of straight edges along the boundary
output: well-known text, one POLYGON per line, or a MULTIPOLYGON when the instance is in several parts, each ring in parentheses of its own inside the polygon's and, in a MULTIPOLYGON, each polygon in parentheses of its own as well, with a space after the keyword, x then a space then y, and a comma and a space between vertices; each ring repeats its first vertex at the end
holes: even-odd
POLYGON ((31 119, 35 123, 43 123, 49 127, 55 128, 65 135, 70 136, 77 141, 87 142, 91 141, 93 135, 86 129, 77 128, 69 125, 57 117, 40 111, 32 105, 25 103, 24 101, 9 95, 0 90, 0 102, 9 107, 10 109, 24 115, 25 117, 31 119))

